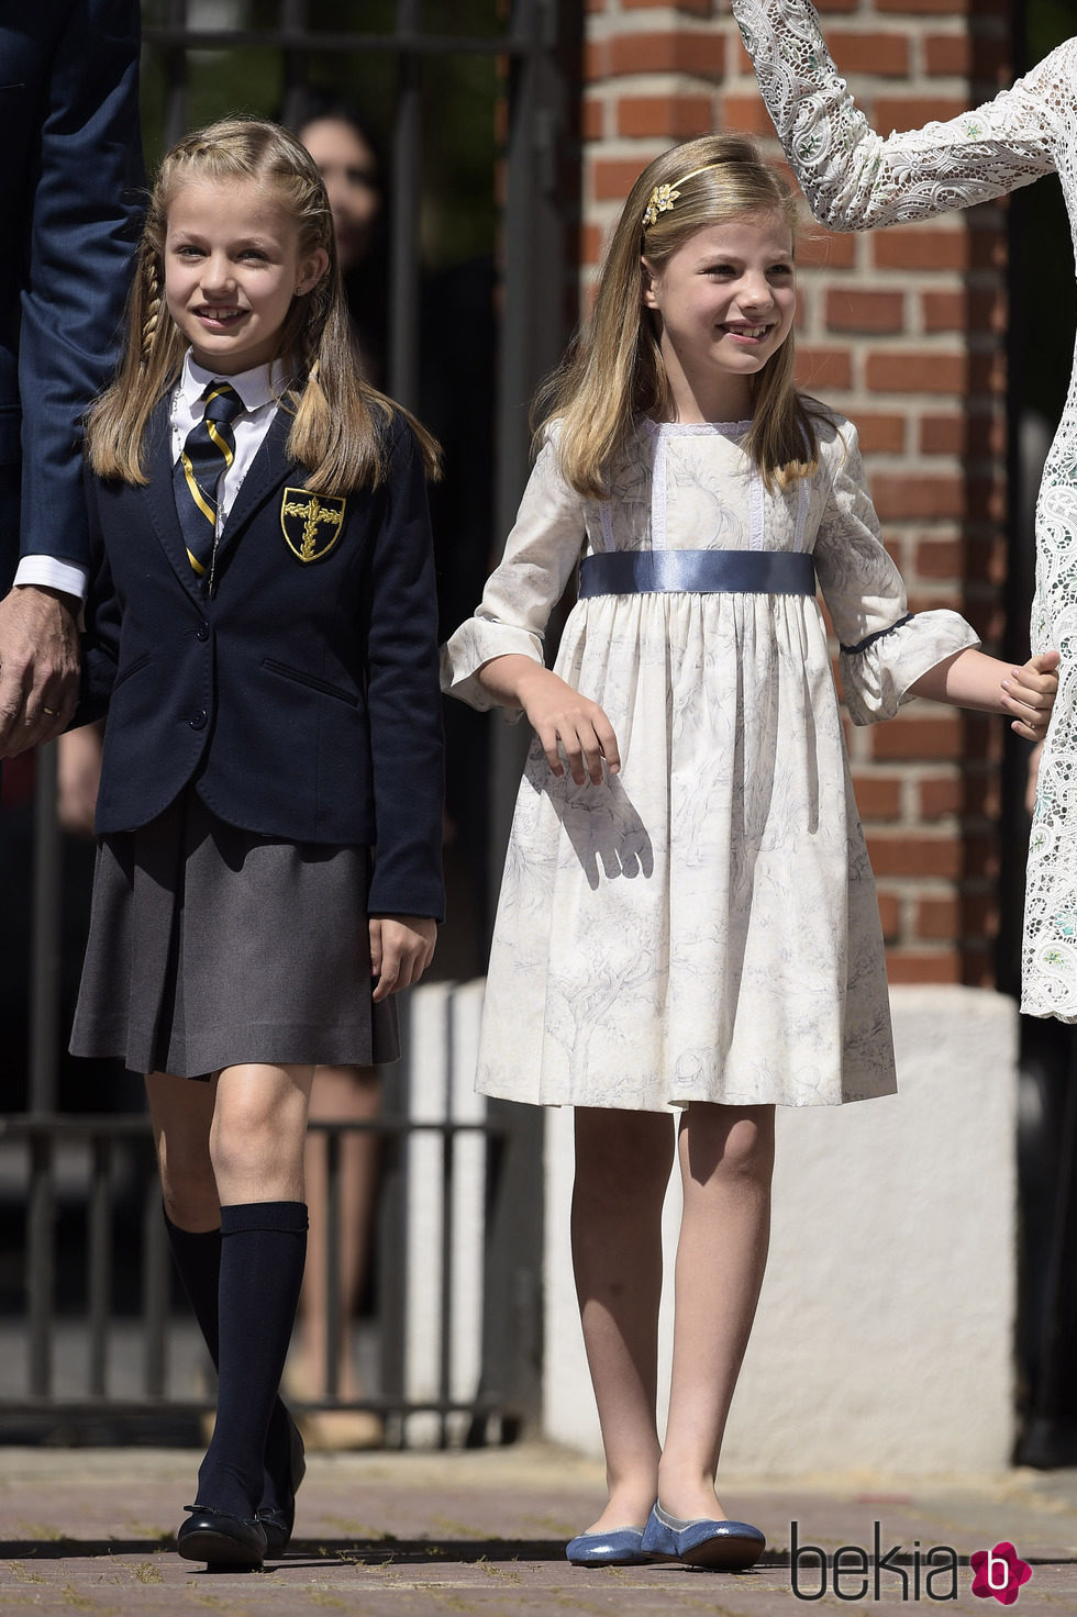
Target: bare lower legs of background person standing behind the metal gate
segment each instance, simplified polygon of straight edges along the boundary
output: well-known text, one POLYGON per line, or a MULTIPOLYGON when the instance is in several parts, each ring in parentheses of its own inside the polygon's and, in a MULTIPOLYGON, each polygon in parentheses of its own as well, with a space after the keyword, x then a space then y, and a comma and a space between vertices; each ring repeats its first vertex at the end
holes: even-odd
MULTIPOLYGON (((382 1109, 382 1083, 375 1067, 317 1067, 310 1091, 310 1119, 323 1122, 369 1122, 382 1109)), ((340 1340, 333 1344, 336 1392, 341 1399, 359 1395, 351 1362, 351 1319, 367 1273, 374 1222, 374 1192, 378 1169, 375 1134, 343 1134, 340 1151, 340 1340)), ((304 1397, 327 1389, 328 1365, 328 1174, 327 1140, 307 1137, 307 1201, 310 1235, 307 1273, 299 1295, 299 1378, 304 1397)))

